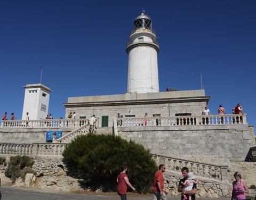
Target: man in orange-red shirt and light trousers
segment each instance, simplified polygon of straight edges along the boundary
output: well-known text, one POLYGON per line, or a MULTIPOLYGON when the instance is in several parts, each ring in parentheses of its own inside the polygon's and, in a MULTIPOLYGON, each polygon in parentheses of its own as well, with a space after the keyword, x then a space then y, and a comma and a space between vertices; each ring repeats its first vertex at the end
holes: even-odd
POLYGON ((154 185, 153 185, 153 200, 167 200, 164 193, 164 176, 165 172, 164 164, 159 165, 158 171, 155 173, 154 185))

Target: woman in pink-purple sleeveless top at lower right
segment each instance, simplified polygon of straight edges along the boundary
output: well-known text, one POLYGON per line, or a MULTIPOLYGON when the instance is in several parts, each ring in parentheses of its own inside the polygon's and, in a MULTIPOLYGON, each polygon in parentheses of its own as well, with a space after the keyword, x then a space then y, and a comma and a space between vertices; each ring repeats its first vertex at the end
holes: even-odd
POLYGON ((249 189, 246 186, 245 182, 242 180, 241 173, 238 171, 234 173, 235 181, 233 182, 233 191, 232 191, 232 197, 231 200, 239 200, 239 199, 245 199, 245 194, 249 194, 249 189))

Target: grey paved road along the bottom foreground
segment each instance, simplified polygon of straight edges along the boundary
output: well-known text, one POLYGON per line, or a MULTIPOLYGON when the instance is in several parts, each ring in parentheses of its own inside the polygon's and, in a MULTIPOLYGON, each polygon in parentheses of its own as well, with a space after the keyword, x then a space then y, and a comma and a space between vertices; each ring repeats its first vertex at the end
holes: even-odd
MULTIPOLYGON (((14 187, 1 187, 2 200, 116 200, 121 199, 118 195, 116 196, 103 196, 103 195, 84 195, 84 194, 72 194, 72 193, 53 193, 46 191, 38 191, 24 188, 14 187)), ((152 197, 127 197, 128 200, 151 200, 152 197)), ((168 200, 180 200, 180 197, 168 196, 168 200)), ((197 198, 199 200, 229 200, 230 198, 197 198)))

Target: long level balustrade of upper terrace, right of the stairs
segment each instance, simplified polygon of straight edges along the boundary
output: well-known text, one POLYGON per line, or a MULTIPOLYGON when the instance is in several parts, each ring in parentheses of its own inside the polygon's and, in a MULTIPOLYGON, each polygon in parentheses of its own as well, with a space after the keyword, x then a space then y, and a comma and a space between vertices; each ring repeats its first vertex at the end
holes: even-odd
POLYGON ((118 127, 137 126, 207 126, 225 124, 247 124, 246 114, 155 116, 147 118, 117 118, 118 127), (122 122, 122 123, 119 123, 122 122))

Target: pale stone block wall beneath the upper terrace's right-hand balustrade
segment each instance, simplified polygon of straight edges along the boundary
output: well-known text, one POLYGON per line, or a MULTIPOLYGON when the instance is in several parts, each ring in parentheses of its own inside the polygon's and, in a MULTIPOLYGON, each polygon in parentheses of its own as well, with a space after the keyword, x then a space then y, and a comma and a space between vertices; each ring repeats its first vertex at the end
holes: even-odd
POLYGON ((244 161, 250 147, 255 145, 255 138, 251 137, 251 129, 246 124, 118 127, 118 135, 149 148, 151 153, 173 157, 198 155, 209 159, 217 156, 244 161))

